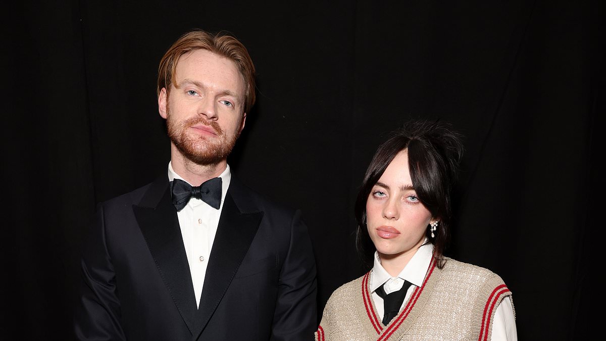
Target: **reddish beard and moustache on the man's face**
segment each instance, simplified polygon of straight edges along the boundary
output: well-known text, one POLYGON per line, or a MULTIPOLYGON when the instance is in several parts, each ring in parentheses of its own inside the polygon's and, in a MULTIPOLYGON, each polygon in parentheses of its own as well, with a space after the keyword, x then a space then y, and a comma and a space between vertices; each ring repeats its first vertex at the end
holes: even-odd
POLYGON ((168 137, 175 147, 188 160, 196 164, 216 164, 225 160, 238 140, 239 132, 228 137, 216 121, 205 120, 202 116, 193 117, 184 121, 176 121, 167 107, 166 126, 168 137), (217 134, 217 140, 211 141, 207 137, 188 134, 187 130, 196 124, 211 127, 217 134))

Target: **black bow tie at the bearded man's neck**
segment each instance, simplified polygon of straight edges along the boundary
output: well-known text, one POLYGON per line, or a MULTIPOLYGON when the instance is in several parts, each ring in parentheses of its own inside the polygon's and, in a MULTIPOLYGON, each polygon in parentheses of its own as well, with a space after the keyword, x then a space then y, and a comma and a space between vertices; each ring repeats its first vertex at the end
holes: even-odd
POLYGON ((177 212, 181 211, 191 197, 203 200, 212 208, 221 207, 221 178, 212 178, 200 186, 191 186, 187 182, 175 179, 170 183, 170 196, 177 212))

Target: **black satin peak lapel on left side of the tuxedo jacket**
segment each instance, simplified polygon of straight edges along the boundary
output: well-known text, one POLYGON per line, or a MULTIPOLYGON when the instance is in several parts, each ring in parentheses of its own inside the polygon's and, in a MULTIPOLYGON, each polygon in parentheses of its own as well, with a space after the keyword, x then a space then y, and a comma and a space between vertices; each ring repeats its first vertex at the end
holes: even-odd
POLYGON ((196 297, 177 211, 170 200, 168 179, 153 183, 140 205, 133 205, 133 211, 162 280, 193 333, 196 297))

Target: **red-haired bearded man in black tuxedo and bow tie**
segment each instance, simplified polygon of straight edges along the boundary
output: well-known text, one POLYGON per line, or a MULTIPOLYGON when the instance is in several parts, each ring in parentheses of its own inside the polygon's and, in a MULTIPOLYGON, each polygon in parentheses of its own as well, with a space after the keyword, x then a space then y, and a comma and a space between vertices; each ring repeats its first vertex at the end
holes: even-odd
POLYGON ((227 164, 255 103, 254 74, 241 42, 201 30, 162 58, 168 172, 99 204, 82 254, 79 340, 313 337, 316 265, 301 214, 227 164))

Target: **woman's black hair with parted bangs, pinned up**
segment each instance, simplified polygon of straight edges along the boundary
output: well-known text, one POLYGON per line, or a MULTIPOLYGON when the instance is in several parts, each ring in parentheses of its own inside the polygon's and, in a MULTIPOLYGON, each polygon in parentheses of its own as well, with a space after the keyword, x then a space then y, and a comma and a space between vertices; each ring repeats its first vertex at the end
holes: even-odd
POLYGON ((432 217, 439 219, 435 238, 431 237, 429 228, 425 235, 433 243, 434 257, 438 260, 438 267, 442 268, 444 249, 450 241, 450 196, 463 154, 461 135, 443 121, 409 121, 391 132, 377 149, 368 165, 355 203, 358 253, 365 265, 372 266, 376 248, 367 231, 366 201, 372 187, 402 150, 408 152, 408 168, 417 197, 432 217))

